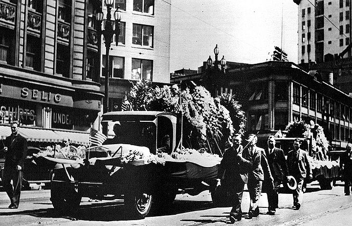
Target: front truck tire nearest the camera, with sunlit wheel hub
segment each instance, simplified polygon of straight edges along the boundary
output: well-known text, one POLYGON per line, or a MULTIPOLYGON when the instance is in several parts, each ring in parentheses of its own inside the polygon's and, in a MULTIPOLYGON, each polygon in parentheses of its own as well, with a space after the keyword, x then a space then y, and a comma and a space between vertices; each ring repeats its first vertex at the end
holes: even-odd
POLYGON ((151 194, 127 192, 124 199, 126 213, 132 218, 143 219, 148 215, 152 202, 153 196, 151 194))

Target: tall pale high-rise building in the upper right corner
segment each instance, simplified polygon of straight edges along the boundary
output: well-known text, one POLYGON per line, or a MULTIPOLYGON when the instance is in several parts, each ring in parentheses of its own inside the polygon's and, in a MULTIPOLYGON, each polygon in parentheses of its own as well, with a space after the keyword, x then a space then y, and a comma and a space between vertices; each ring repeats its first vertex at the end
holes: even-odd
MULTIPOLYGON (((298 62, 336 59, 351 44, 351 0, 296 0, 298 62)), ((344 57, 351 56, 351 50, 344 57)))

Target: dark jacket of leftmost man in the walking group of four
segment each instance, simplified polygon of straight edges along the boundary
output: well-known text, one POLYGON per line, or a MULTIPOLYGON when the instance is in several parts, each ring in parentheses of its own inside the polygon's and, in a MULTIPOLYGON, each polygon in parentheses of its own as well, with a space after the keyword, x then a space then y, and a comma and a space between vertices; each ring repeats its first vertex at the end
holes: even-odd
POLYGON ((248 169, 251 168, 251 162, 244 159, 242 155, 242 145, 239 147, 239 151, 234 150, 233 147, 225 151, 219 169, 218 178, 224 178, 225 183, 229 186, 236 186, 238 182, 243 181, 247 183, 248 169), (239 154, 238 154, 238 153, 239 154))

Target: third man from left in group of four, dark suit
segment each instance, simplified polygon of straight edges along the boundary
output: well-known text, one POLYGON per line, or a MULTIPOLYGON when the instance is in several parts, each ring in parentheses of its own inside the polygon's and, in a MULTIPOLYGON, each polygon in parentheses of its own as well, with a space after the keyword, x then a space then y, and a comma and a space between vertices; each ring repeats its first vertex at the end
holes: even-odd
MULTIPOLYGON (((288 171, 285 153, 282 149, 275 147, 275 137, 270 135, 267 140, 268 149, 265 150, 271 174, 274 179, 273 189, 268 188, 266 191, 268 200, 269 215, 274 215, 279 204, 279 188, 282 182, 286 181, 288 171)), ((265 179, 266 182, 266 179, 265 179)))

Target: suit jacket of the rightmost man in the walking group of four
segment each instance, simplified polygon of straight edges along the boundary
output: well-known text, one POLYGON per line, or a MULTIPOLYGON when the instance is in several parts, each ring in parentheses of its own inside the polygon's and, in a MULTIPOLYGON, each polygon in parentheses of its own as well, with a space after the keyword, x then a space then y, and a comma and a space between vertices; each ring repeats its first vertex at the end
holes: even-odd
POLYGON ((289 151, 287 154, 288 173, 295 178, 306 178, 312 174, 308 153, 302 149, 289 151))

